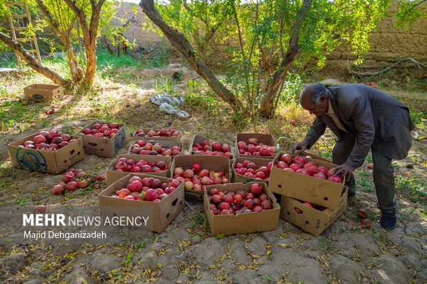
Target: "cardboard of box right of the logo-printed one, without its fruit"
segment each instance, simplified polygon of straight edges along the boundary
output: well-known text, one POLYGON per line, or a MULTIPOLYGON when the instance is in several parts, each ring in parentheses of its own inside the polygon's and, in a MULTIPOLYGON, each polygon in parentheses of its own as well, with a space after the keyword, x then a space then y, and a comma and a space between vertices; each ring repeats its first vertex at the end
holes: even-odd
MULTIPOLYGON (((95 123, 110 124, 110 122, 92 122, 83 129, 92 129, 95 123)), ((85 149, 85 153, 87 155, 97 155, 98 157, 113 157, 116 155, 118 150, 120 150, 126 142, 125 124, 119 123, 118 127, 121 127, 121 129, 113 136, 113 138, 110 139, 84 135, 82 133, 82 129, 77 133, 77 135, 81 136, 83 139, 83 148, 85 149)))

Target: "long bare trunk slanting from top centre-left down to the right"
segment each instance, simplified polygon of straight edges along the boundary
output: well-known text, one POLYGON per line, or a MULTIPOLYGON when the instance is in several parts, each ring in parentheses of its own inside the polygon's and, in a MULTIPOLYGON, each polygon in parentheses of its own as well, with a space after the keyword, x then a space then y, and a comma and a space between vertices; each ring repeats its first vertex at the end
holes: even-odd
POLYGON ((158 12, 156 6, 154 5, 153 0, 141 0, 139 6, 143 9, 143 12, 153 21, 155 25, 162 30, 163 34, 167 37, 172 45, 183 54, 187 61, 189 61, 191 67, 196 70, 196 72, 202 76, 211 87, 211 89, 217 94, 222 100, 227 102, 230 105, 233 111, 240 111, 242 109, 242 103, 237 98, 237 96, 225 85, 222 85, 220 80, 211 72, 207 67, 205 62, 203 62, 199 56, 194 52, 194 48, 191 46, 191 43, 185 37, 184 34, 178 32, 178 30, 172 28, 170 25, 167 25, 163 20, 163 17, 158 12))

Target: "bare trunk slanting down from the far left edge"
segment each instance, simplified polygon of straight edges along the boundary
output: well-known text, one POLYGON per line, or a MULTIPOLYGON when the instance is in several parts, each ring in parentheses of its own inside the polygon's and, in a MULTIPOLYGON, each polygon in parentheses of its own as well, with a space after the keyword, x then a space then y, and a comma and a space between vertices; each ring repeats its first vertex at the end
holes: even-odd
POLYGON ((65 80, 56 72, 53 72, 48 67, 45 67, 44 65, 39 63, 36 58, 34 58, 31 54, 29 54, 23 49, 21 43, 13 41, 13 39, 7 34, 3 34, 2 32, 0 32, 0 41, 3 41, 3 43, 8 45, 8 47, 10 47, 16 54, 21 56, 25 63, 27 63, 27 65, 31 67, 35 72, 38 72, 43 76, 50 78, 50 80, 54 81, 54 83, 56 83, 57 85, 67 87, 70 84, 70 81, 65 80))

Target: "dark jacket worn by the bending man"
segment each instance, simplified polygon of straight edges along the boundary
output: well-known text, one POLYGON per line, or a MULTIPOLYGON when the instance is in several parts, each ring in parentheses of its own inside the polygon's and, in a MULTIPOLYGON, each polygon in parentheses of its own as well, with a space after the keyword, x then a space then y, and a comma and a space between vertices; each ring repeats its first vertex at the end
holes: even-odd
MULTIPOLYGON (((406 105, 382 91, 362 84, 335 85, 326 88, 326 93, 335 115, 355 139, 347 164, 358 168, 371 147, 395 160, 402 160, 408 155, 410 131, 414 129, 414 124, 406 105)), ((326 126, 338 139, 348 135, 337 129, 325 112, 315 119, 304 138, 309 142, 308 148, 323 135, 326 126)))

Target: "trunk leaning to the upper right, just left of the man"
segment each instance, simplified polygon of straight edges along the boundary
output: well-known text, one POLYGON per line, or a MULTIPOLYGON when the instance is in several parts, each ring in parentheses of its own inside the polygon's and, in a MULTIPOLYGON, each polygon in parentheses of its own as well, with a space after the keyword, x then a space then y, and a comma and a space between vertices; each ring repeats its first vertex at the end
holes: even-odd
POLYGON ((278 89, 286 79, 287 73, 295 61, 295 56, 300 52, 298 38, 302 23, 306 18, 306 12, 311 6, 311 1, 312 0, 304 0, 302 3, 298 19, 296 19, 292 26, 291 39, 289 39, 287 52, 284 54, 284 58, 282 59, 279 69, 273 74, 273 80, 271 80, 271 83, 267 85, 266 94, 261 100, 260 113, 266 118, 270 118, 273 115, 275 96, 280 96, 280 94, 278 94, 278 89))

